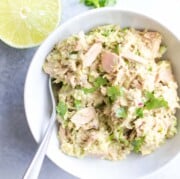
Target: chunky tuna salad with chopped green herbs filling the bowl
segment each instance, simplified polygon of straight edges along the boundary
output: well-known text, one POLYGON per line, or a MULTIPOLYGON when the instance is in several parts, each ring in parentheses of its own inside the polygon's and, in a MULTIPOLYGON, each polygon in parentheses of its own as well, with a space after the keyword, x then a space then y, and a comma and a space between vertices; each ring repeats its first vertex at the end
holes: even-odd
POLYGON ((62 152, 124 159, 177 133, 177 83, 159 32, 96 27, 57 43, 44 71, 57 94, 62 152))

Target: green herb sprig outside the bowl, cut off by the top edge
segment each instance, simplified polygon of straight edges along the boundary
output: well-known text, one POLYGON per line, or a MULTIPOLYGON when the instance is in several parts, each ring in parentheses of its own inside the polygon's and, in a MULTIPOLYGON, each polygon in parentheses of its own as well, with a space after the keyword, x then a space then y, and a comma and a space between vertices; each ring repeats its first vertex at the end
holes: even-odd
POLYGON ((86 6, 92 6, 94 8, 112 6, 116 4, 116 0, 80 0, 86 6))

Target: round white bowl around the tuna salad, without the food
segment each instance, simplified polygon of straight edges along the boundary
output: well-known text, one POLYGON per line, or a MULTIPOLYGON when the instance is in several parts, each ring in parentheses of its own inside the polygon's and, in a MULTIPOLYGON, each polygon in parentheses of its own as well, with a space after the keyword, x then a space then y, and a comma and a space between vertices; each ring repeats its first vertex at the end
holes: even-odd
MULTIPOLYGON (((25 83, 24 102, 27 121, 37 142, 40 142, 46 128, 51 102, 48 91, 48 76, 42 71, 42 65, 47 54, 60 40, 103 24, 119 24, 121 27, 156 30, 163 34, 163 40, 168 46, 167 57, 171 59, 176 80, 180 84, 180 43, 165 27, 144 15, 112 8, 88 11, 77 16, 57 28, 39 47, 25 83)), ((47 156, 59 167, 69 173, 86 179, 119 179, 137 178, 157 171, 172 160, 180 150, 180 133, 168 140, 153 154, 140 156, 131 154, 123 161, 106 161, 98 158, 76 159, 64 155, 59 149, 56 129, 51 138, 47 156)))

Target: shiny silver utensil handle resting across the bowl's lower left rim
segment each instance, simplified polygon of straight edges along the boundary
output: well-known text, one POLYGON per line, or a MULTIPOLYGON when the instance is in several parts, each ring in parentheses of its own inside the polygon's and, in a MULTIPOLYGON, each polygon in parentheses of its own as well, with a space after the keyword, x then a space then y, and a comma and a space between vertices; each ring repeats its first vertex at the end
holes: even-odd
POLYGON ((52 131, 55 124, 55 116, 56 113, 53 112, 51 115, 50 122, 46 129, 45 135, 34 155, 33 160, 31 161, 28 169, 26 170, 23 179, 37 179, 41 170, 41 166, 47 151, 48 143, 50 141, 50 137, 52 135, 52 131))

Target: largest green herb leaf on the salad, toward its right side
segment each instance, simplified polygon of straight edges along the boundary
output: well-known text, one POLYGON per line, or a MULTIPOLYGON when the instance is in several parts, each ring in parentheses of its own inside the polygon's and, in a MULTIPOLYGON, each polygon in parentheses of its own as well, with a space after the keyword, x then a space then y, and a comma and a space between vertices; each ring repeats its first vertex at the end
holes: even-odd
POLYGON ((145 102, 145 107, 148 110, 168 107, 168 102, 165 101, 163 97, 156 98, 151 92, 146 92, 145 96, 147 99, 147 101, 145 102))

